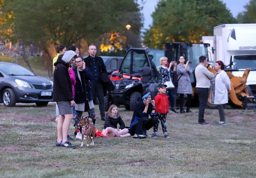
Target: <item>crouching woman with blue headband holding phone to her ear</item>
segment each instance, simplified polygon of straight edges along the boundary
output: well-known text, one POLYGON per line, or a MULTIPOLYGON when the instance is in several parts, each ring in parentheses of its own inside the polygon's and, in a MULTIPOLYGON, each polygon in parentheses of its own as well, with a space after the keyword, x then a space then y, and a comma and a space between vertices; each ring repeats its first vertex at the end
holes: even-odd
POLYGON ((151 99, 150 92, 143 92, 141 94, 142 101, 136 102, 133 118, 130 124, 129 133, 136 137, 149 137, 147 130, 157 124, 157 118, 155 118, 156 106, 155 101, 151 99), (149 118, 151 116, 151 118, 149 118))

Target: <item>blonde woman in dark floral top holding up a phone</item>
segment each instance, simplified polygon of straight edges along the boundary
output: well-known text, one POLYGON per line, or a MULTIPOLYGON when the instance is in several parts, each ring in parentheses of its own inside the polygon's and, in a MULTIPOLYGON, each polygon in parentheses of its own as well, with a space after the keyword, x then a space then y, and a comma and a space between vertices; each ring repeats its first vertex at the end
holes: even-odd
MULTIPOLYGON (((160 57, 160 67, 159 67, 159 73, 162 75, 163 78, 163 83, 165 83, 166 81, 172 81, 173 78, 173 73, 176 72, 176 65, 177 62, 176 61, 172 61, 170 62, 169 67, 167 67, 167 57, 160 57), (171 69, 173 65, 173 70, 171 69)), ((166 90, 166 95, 169 96, 169 100, 170 100, 170 105, 171 105, 171 109, 170 111, 173 113, 178 113, 177 111, 175 111, 175 94, 173 89, 167 89, 166 90)))

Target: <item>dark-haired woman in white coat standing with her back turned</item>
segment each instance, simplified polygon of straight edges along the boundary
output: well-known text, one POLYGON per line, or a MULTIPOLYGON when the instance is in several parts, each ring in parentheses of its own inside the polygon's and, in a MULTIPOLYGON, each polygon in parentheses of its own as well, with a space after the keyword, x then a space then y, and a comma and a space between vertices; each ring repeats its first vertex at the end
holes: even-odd
POLYGON ((228 90, 230 90, 230 79, 224 71, 222 61, 217 61, 214 65, 217 71, 211 83, 211 102, 217 105, 220 114, 220 121, 215 122, 217 125, 226 125, 224 104, 228 103, 228 90))

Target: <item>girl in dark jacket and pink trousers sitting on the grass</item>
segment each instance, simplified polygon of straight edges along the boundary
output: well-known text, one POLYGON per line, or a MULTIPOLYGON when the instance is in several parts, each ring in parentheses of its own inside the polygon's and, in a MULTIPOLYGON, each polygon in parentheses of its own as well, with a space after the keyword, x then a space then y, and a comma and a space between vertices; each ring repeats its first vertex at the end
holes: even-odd
POLYGON ((104 130, 102 130, 103 135, 109 137, 130 137, 131 134, 128 133, 128 129, 125 128, 125 123, 123 122, 120 114, 117 111, 116 105, 111 105, 107 111, 104 130), (117 129, 117 124, 120 125, 117 129))

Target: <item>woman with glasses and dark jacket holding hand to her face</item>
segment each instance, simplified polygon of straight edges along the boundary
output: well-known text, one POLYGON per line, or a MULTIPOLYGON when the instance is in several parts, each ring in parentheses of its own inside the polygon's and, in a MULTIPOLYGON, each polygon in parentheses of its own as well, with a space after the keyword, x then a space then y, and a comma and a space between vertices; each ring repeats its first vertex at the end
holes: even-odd
MULTIPOLYGON (((76 67, 73 68, 76 78, 75 85, 75 98, 76 101, 76 118, 75 126, 79 123, 83 112, 88 112, 89 118, 92 118, 93 124, 95 124, 95 111, 92 101, 92 91, 89 81, 92 79, 92 73, 89 67, 85 66, 85 62, 82 56, 76 58, 76 67)), ((76 138, 82 139, 82 134, 78 128, 75 132, 76 138)))

